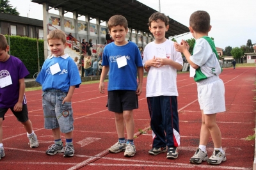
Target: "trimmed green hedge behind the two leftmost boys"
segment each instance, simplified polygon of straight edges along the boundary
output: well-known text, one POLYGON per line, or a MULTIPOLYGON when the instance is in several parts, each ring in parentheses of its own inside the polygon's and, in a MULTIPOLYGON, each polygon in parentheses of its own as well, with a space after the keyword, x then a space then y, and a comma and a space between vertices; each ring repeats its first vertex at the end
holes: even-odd
POLYGON ((6 35, 7 42, 10 46, 10 55, 19 58, 29 71, 29 75, 25 78, 33 78, 33 74, 38 72, 38 52, 40 68, 44 63, 44 40, 37 40, 36 38, 28 38, 26 36, 10 36, 6 35))

